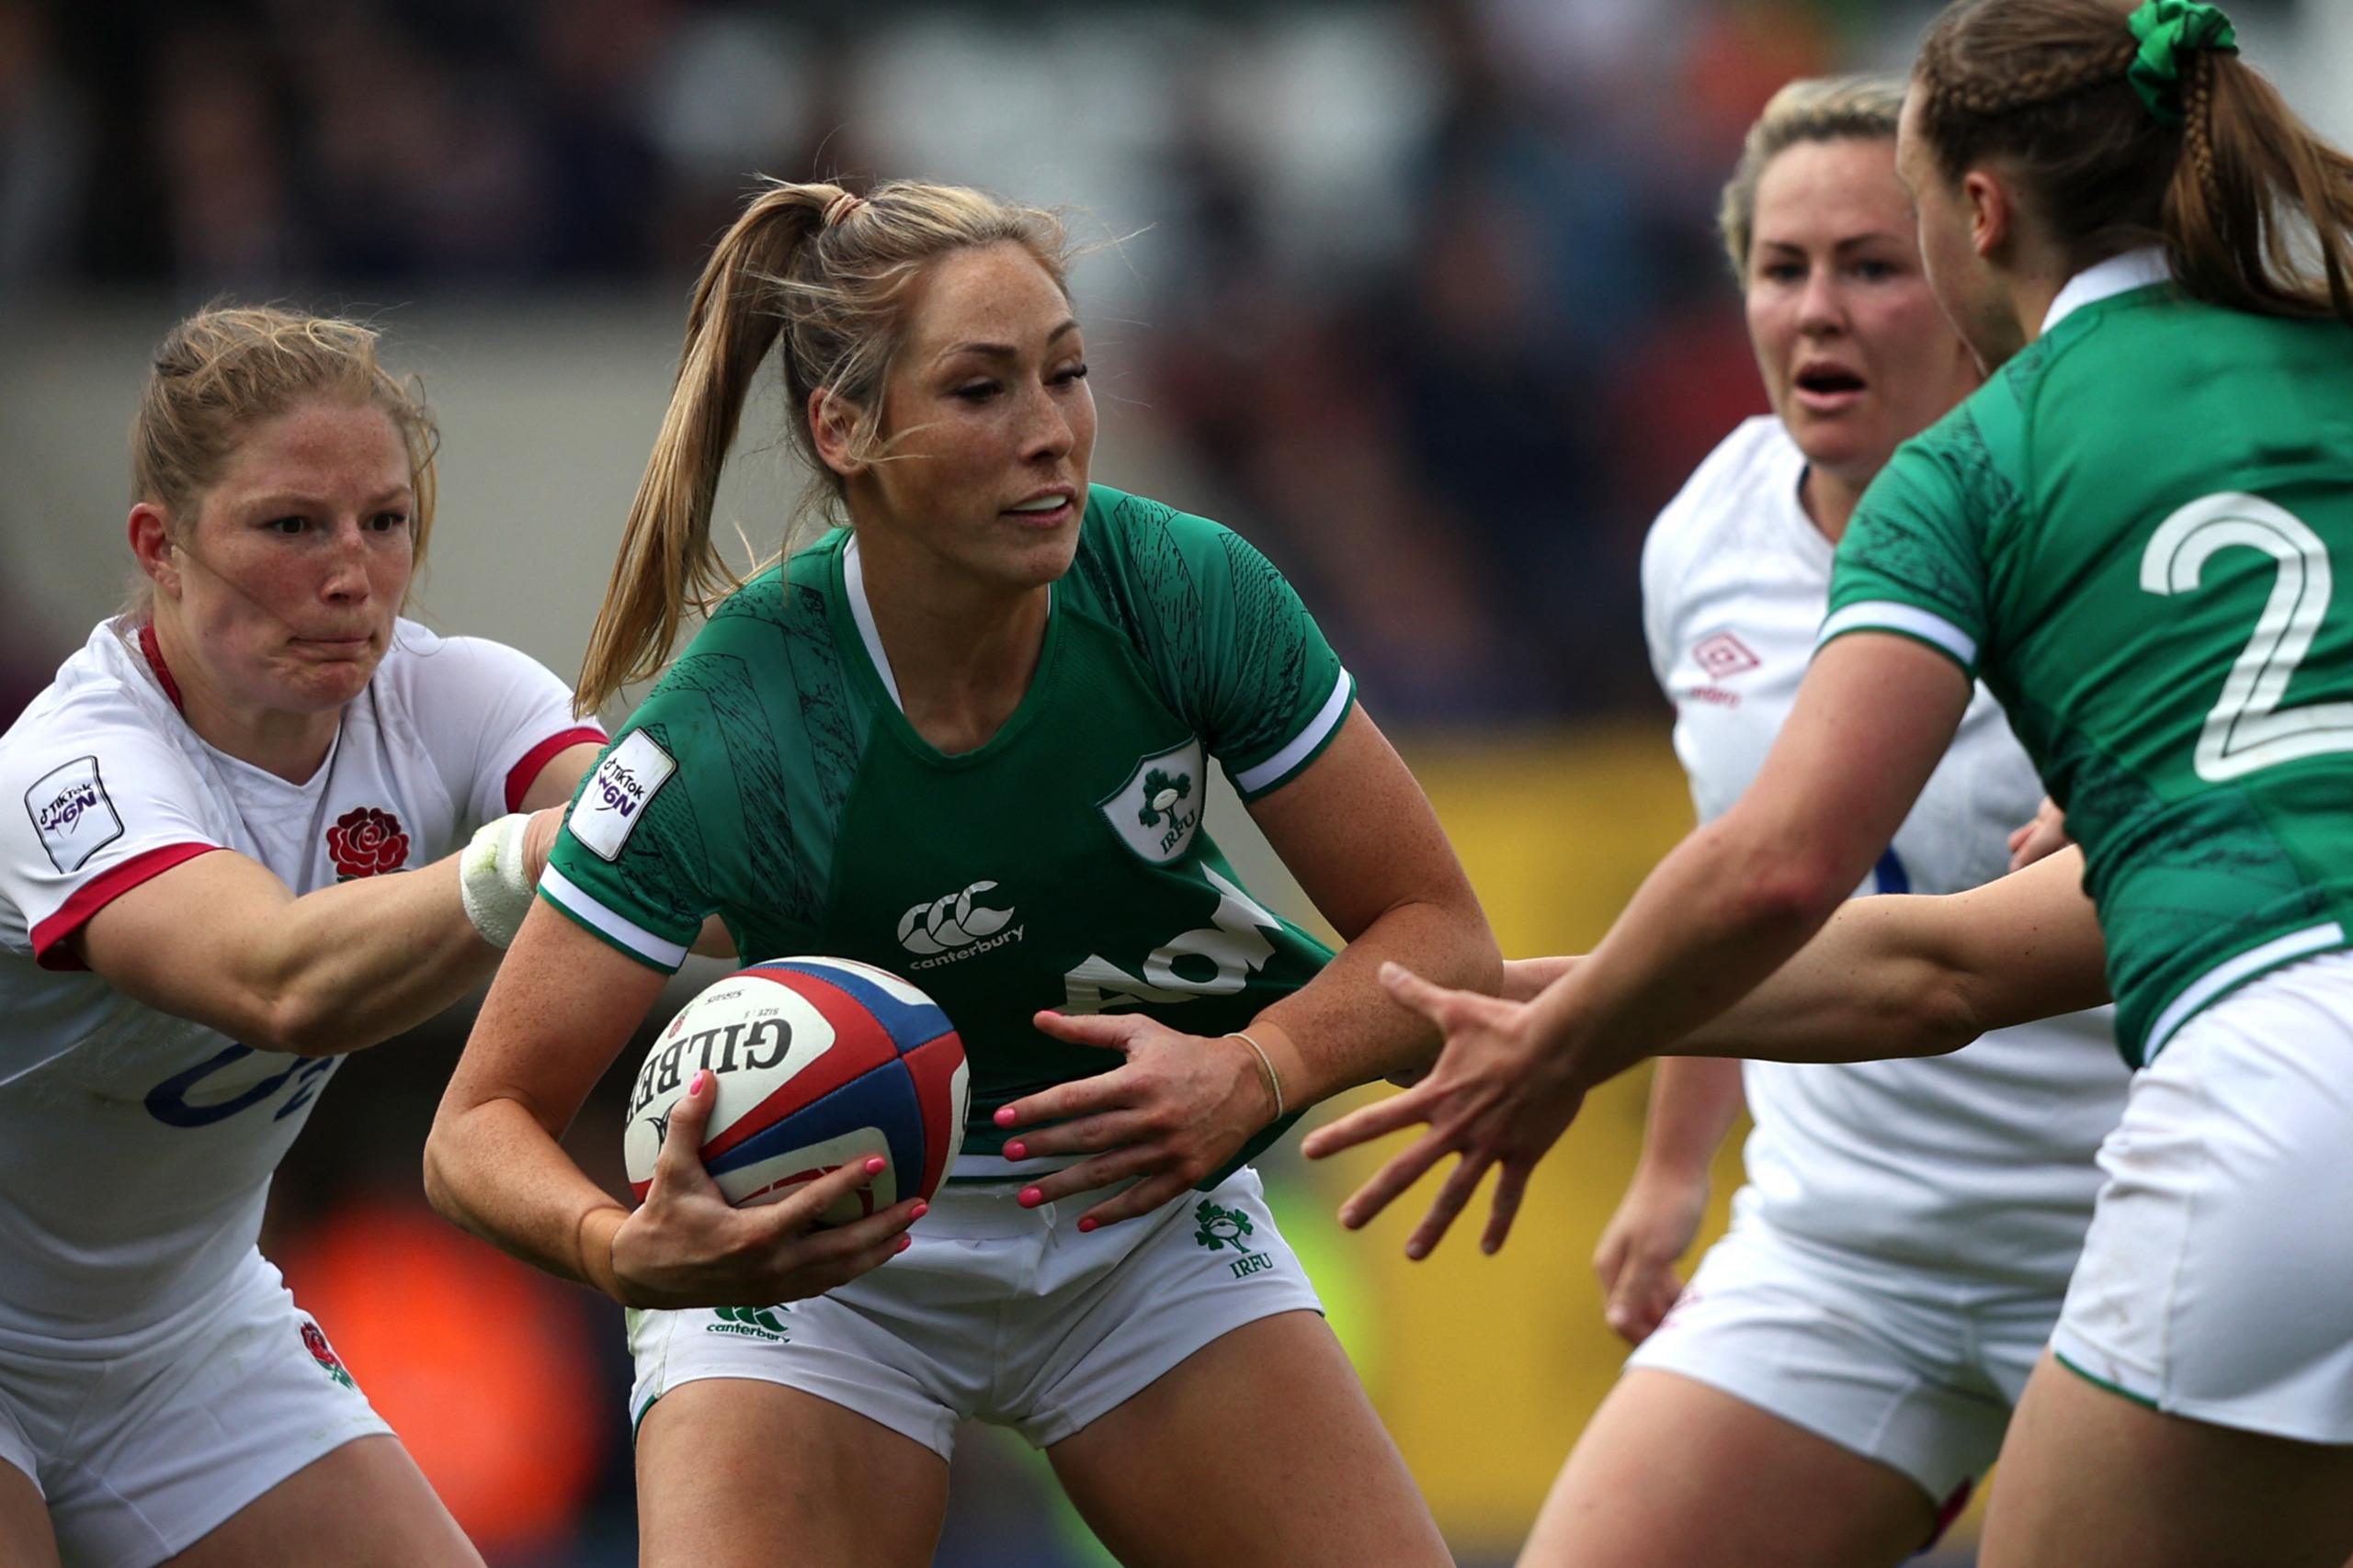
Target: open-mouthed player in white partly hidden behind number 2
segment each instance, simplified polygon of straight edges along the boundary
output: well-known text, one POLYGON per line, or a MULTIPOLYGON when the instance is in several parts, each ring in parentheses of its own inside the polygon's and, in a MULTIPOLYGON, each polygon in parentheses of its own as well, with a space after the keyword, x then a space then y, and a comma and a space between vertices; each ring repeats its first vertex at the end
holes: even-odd
MULTIPOLYGON (((1732 806, 1788 717, 1854 501, 1977 386, 1920 273, 1894 174, 1901 101, 1901 80, 1791 82, 1725 188, 1774 414, 1699 465, 1642 552, 1652 668, 1701 820, 1732 806)), ((2040 792, 1979 689, 1859 891, 2000 877, 2040 792)), ((1515 992, 1553 973, 1518 964, 1515 992)), ((1638 1349, 1522 1561, 1866 1568, 1915 1552, 2002 1441, 2122 1098, 2106 1013, 1929 1060, 1661 1060, 1642 1164, 1595 1253, 1609 1324, 1638 1349), (1748 1185, 1685 1291, 1675 1265, 1744 1088, 1748 1185)))

